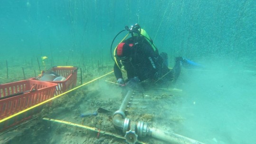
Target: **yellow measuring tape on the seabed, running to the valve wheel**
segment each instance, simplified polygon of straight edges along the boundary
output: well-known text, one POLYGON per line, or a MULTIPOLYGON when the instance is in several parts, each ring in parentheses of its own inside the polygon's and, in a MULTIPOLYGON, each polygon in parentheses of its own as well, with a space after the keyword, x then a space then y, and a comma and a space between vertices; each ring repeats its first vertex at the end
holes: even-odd
MULTIPOLYGON (((70 125, 70 126, 82 127, 82 128, 86 128, 86 129, 89 129, 89 130, 92 130, 92 131, 95 131, 95 132, 98 132, 98 133, 102 133, 102 134, 106 134, 106 135, 115 136, 115 137, 118 137, 118 138, 125 139, 125 137, 123 137, 123 136, 119 136, 119 135, 116 135, 116 134, 113 134, 113 133, 110 133, 110 132, 99 130, 98 128, 95 128, 95 127, 88 127, 88 126, 84 126, 84 125, 75 124, 75 123, 72 123, 72 122, 57 120, 57 119, 49 119, 49 118, 43 118, 43 119, 44 120, 49 120, 49 121, 54 121, 54 122, 57 122, 57 123, 70 125)), ((145 144, 141 141, 137 141, 137 142, 140 143, 140 144, 145 144)))

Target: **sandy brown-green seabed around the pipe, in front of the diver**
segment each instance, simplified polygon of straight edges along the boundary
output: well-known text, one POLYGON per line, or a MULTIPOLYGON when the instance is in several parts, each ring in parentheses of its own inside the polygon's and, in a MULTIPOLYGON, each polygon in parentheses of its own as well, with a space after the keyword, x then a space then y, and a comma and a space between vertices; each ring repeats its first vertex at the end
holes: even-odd
MULTIPOLYGON (((94 71, 95 73, 85 71, 82 74, 84 83, 104 75, 109 72, 111 67, 94 71)), ((33 75, 32 72, 30 75, 33 75)), ((79 72, 77 76, 77 85, 80 85, 79 72)), ((115 82, 113 73, 53 100, 40 113, 34 115, 32 120, 28 120, 19 127, 9 128, 8 131, 2 133, 0 143, 127 144, 122 138, 43 119, 67 121, 123 136, 120 130, 114 128, 112 115, 119 109, 127 89, 111 82, 115 82), (85 118, 80 117, 81 113, 93 113, 98 108, 104 108, 111 112, 98 113, 97 116, 85 118)), ((133 121, 142 120, 150 127, 156 127, 163 131, 175 131, 179 129, 180 123, 184 120, 173 110, 180 105, 181 93, 173 90, 171 85, 162 87, 144 82, 134 92, 126 116, 133 121)), ((166 144, 166 142, 150 136, 139 138, 139 140, 146 144, 166 144)))

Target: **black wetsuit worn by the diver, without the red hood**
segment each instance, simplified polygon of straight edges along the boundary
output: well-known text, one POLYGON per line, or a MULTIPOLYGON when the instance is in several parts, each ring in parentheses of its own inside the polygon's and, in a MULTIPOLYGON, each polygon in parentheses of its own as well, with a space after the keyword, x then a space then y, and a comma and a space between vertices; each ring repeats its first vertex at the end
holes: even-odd
MULTIPOLYGON (((140 81, 145 79, 158 80, 164 76, 164 80, 173 80, 180 75, 180 63, 176 63, 173 70, 163 64, 163 59, 158 53, 154 51, 150 43, 143 36, 134 36, 124 42, 128 43, 132 49, 131 62, 123 62, 124 69, 127 72, 128 79, 138 76, 140 81)), ((118 61, 121 68, 121 63, 118 61)), ((117 64, 114 64, 114 75, 116 79, 123 78, 121 70, 117 64)))

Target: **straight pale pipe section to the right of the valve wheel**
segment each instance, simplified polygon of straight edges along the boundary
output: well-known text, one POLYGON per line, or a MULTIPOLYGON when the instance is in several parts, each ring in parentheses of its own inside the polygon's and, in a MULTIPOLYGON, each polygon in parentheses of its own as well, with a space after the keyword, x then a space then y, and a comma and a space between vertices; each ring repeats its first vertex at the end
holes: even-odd
POLYGON ((156 128, 150 128, 150 133, 152 137, 169 142, 170 144, 204 144, 194 139, 171 132, 163 132, 156 128))

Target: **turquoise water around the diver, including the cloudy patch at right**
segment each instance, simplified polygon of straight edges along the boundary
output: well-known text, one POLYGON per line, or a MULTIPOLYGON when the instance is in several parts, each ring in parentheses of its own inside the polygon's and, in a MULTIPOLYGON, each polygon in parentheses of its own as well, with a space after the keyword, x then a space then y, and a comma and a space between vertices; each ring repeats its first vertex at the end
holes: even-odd
POLYGON ((80 66, 81 54, 87 63, 112 64, 114 36, 135 23, 171 66, 183 56, 205 67, 180 75, 186 94, 177 111, 186 120, 179 133, 208 144, 253 144, 255 0, 1 0, 0 77, 6 61, 21 68, 41 56, 49 67, 80 66))

